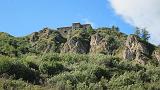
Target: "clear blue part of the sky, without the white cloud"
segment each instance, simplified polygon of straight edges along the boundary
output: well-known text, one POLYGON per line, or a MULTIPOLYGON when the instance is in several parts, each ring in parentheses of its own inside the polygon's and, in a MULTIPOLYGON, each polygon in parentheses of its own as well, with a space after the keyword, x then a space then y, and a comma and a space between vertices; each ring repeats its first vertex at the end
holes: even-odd
POLYGON ((96 28, 116 25, 127 34, 134 29, 114 13, 107 0, 0 0, 0 32, 25 36, 73 22, 90 22, 96 28))

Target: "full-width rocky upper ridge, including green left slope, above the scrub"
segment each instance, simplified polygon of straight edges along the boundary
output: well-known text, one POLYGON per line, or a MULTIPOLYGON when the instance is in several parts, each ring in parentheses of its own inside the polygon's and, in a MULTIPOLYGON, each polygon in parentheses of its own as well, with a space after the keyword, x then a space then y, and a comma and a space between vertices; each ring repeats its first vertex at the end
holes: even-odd
POLYGON ((44 28, 26 37, 16 38, 0 34, 1 55, 15 56, 27 53, 79 53, 105 54, 145 64, 148 60, 160 61, 160 49, 141 40, 136 35, 126 35, 117 30, 99 28, 92 33, 74 30, 67 38, 58 31, 44 28), (14 42, 13 42, 14 41, 14 42), (6 48, 10 48, 5 51, 6 48), (23 48, 22 48, 23 47, 23 48))

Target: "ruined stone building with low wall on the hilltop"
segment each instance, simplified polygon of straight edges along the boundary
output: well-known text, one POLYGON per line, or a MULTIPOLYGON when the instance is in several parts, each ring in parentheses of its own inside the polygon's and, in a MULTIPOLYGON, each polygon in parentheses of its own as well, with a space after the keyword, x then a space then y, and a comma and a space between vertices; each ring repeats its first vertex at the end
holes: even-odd
POLYGON ((87 30, 89 28, 92 28, 91 24, 72 23, 72 26, 60 27, 57 30, 63 37, 66 37, 72 30, 87 30))

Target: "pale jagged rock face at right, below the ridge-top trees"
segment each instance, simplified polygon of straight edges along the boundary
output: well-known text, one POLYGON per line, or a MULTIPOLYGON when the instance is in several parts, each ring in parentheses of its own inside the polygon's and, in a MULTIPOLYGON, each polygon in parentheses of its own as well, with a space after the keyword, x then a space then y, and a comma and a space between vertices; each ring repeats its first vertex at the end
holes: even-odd
POLYGON ((135 35, 127 37, 125 49, 123 51, 123 58, 128 60, 137 60, 140 63, 145 63, 149 56, 147 46, 140 42, 140 39, 135 35))

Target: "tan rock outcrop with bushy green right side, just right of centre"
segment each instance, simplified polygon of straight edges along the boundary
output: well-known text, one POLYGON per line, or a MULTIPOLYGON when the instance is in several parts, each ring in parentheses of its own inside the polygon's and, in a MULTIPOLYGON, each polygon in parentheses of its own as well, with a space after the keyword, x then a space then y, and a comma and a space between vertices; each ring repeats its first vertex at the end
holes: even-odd
POLYGON ((90 53, 102 53, 116 55, 123 46, 126 35, 112 29, 100 28, 94 35, 91 35, 90 53))

